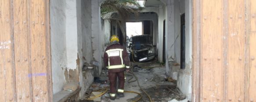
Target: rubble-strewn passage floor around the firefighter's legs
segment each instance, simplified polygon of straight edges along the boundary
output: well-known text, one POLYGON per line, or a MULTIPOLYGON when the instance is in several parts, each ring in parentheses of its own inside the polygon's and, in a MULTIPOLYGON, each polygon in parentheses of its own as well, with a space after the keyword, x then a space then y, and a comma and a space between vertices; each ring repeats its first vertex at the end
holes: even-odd
MULTIPOLYGON (((165 75, 165 67, 143 68, 139 66, 133 67, 133 74, 137 76, 141 88, 148 93, 152 102, 168 102, 176 99, 178 101, 186 97, 176 87, 177 83, 170 77, 165 75)), ((125 97, 116 97, 114 101, 109 99, 109 81, 108 71, 102 70, 100 77, 94 77, 94 82, 86 92, 86 98, 94 98, 92 100, 81 100, 80 102, 133 102, 142 98, 137 102, 150 102, 148 96, 139 88, 137 80, 130 73, 126 73, 125 91, 138 92, 124 93, 125 97), (130 80, 131 79, 131 80, 130 80), (104 93, 104 91, 106 91, 104 93), (104 93, 104 94, 102 94, 104 93), (95 98, 95 96, 98 96, 95 98)))

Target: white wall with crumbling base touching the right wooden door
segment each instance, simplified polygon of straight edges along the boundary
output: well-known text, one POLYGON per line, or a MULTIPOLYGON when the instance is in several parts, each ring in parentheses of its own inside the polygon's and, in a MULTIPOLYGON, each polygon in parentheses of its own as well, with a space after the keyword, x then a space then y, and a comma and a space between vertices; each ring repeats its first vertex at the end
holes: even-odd
POLYGON ((177 87, 182 91, 187 99, 191 101, 192 93, 192 15, 191 15, 191 0, 175 0, 174 1, 174 29, 175 29, 175 58, 177 63, 180 63, 180 15, 185 13, 185 69, 180 69, 180 66, 171 66, 172 74, 177 80, 177 87))

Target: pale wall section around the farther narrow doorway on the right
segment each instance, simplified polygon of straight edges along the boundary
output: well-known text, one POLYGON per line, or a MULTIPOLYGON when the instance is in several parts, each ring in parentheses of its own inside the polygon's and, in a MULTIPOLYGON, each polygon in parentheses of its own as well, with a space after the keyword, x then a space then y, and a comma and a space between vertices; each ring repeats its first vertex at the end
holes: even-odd
MULTIPOLYGON (((171 57, 175 57, 174 55, 174 1, 175 0, 161 0, 163 4, 159 6, 159 23, 158 23, 158 57, 159 61, 163 61, 163 57, 165 57, 166 62, 172 61, 171 57), (165 21, 165 55, 163 56, 163 22, 165 21)), ((170 72, 169 65, 166 64, 166 74, 169 75, 170 72)))

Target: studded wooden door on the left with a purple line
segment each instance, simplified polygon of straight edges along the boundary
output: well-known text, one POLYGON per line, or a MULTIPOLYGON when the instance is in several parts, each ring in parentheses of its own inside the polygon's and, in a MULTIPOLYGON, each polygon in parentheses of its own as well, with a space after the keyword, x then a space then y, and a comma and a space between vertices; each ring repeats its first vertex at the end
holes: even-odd
POLYGON ((0 102, 51 102, 49 0, 0 0, 0 102))

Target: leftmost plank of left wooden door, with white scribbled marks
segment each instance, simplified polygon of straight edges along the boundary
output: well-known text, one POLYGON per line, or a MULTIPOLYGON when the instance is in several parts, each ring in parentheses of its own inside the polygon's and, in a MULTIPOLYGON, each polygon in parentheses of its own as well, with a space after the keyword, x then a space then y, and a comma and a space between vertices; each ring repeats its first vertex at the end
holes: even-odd
POLYGON ((14 102, 13 20, 10 0, 0 0, 0 102, 14 102))

